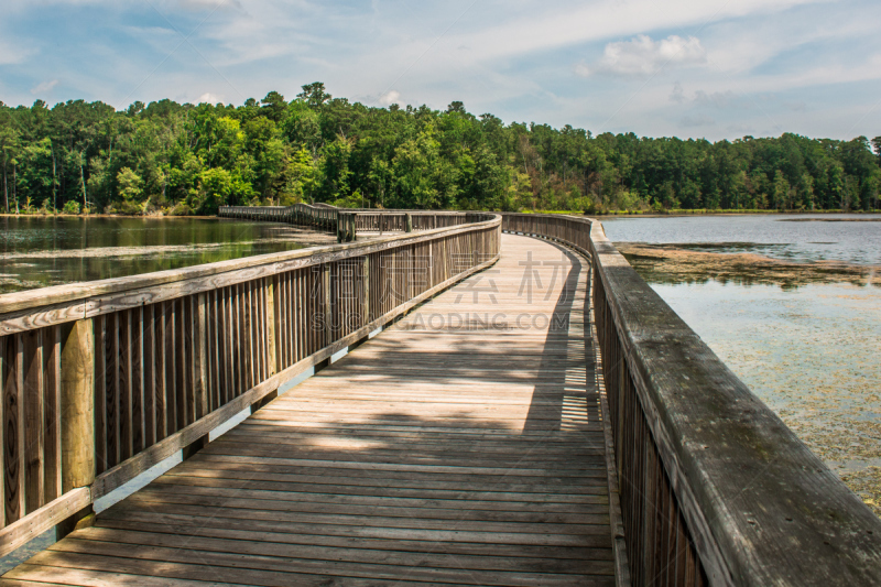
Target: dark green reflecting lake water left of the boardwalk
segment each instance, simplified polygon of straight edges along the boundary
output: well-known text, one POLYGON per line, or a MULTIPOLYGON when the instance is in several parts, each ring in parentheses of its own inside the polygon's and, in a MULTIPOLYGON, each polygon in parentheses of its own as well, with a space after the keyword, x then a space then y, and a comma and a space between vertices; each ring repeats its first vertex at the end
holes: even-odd
POLYGON ((217 218, 0 218, 0 294, 121 278, 333 241, 217 218))

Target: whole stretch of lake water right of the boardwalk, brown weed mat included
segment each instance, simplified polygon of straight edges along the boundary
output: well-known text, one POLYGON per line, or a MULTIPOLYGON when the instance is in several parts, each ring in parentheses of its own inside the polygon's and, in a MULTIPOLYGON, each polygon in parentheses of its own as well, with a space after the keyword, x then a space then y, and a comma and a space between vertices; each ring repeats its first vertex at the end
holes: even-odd
POLYGON ((839 221, 881 217, 805 218, 602 222, 643 279, 881 514, 881 222, 839 221))

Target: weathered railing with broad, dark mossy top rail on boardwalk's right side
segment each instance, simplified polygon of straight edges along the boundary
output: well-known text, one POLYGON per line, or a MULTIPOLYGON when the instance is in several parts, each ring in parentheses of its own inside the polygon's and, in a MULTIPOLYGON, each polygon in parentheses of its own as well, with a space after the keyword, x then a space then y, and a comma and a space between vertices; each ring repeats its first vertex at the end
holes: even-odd
POLYGON ((881 585, 881 520, 640 279, 598 221, 503 215, 591 259, 633 585, 881 585))

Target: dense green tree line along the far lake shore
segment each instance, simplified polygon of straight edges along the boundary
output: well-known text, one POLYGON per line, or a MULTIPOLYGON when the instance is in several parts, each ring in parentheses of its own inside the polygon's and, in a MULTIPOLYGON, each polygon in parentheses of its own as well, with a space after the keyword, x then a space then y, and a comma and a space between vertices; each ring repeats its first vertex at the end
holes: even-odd
POLYGON ((7 210, 213 214, 330 202, 458 209, 869 209, 870 141, 733 142, 504 124, 461 102, 370 108, 324 84, 243 106, 0 102, 7 210))

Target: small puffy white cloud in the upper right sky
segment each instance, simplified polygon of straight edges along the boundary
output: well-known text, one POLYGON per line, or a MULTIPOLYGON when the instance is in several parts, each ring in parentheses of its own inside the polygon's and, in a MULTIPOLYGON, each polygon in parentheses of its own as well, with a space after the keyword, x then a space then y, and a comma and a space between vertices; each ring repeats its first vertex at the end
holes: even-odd
POLYGON ((609 43, 602 57, 591 66, 579 66, 579 75, 652 75, 671 65, 699 65, 706 63, 707 54, 700 40, 670 35, 653 41, 644 34, 630 41, 609 43))

